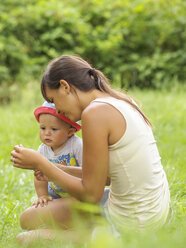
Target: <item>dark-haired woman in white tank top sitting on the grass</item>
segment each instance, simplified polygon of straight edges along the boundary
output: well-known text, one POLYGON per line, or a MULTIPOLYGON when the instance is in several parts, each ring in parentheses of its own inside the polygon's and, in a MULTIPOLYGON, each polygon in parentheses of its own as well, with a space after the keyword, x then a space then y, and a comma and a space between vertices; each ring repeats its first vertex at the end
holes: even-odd
POLYGON ((11 152, 15 167, 39 170, 73 196, 49 202, 44 212, 26 210, 22 227, 37 229, 41 219, 48 226, 49 209, 56 222, 68 227, 74 201, 99 202, 107 177, 107 216, 117 230, 161 227, 169 213, 168 182, 150 122, 135 102, 111 89, 104 75, 86 61, 68 55, 51 61, 41 90, 58 113, 73 122, 81 120, 83 166, 81 175, 59 171, 37 152, 16 146, 11 152))

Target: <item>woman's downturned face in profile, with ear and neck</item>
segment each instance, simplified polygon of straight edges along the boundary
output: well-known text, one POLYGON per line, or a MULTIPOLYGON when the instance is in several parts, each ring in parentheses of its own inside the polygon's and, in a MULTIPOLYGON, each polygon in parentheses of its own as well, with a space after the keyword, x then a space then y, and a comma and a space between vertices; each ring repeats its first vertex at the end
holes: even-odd
POLYGON ((56 112, 64 114, 71 121, 76 122, 81 119, 81 107, 77 94, 70 89, 70 86, 61 85, 58 89, 46 87, 47 98, 55 104, 56 112))

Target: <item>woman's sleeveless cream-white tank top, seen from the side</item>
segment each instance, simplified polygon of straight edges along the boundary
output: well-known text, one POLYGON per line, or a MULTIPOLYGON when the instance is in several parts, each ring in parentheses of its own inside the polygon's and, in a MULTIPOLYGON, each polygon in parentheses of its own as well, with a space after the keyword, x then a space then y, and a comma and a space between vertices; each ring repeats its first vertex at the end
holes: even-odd
MULTIPOLYGON (((112 97, 95 102, 112 105, 123 115, 126 131, 109 146, 111 178, 108 210, 118 227, 161 227, 169 213, 170 193, 151 127, 130 104, 112 97)), ((116 127, 118 128, 118 127, 116 127)))

